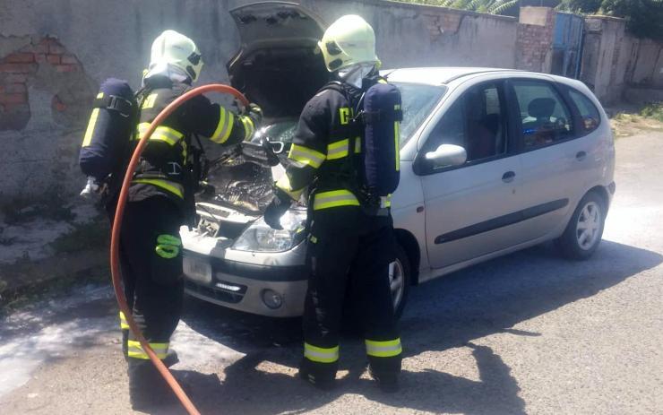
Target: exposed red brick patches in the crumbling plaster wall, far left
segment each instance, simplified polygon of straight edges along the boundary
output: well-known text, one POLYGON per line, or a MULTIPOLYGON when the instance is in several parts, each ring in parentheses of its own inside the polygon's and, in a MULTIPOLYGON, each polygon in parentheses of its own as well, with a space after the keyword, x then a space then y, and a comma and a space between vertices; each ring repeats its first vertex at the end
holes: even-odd
MULTIPOLYGON (((28 85, 39 69, 50 65, 56 73, 82 72, 81 63, 55 38, 46 37, 0 59, 0 131, 22 130, 30 121, 28 85)), ((57 95, 55 111, 66 105, 57 95)))

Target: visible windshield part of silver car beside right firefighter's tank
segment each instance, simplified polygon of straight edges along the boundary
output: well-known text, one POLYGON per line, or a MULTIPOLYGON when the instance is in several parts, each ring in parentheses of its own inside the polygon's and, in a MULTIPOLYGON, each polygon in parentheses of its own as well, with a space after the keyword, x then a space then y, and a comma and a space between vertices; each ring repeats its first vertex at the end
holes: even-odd
POLYGON ((435 104, 442 99, 446 88, 420 83, 393 82, 393 84, 400 90, 402 99, 403 121, 400 123, 400 147, 402 148, 435 108, 435 104))

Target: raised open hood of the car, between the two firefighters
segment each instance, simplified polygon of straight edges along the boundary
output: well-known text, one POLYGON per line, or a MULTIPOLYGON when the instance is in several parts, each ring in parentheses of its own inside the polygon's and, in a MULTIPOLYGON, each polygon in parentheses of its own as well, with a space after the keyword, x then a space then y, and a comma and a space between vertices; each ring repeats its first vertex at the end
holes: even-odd
POLYGON ((230 11, 241 46, 228 62, 230 84, 267 119, 299 117, 329 80, 317 48, 323 22, 298 4, 263 2, 230 11))

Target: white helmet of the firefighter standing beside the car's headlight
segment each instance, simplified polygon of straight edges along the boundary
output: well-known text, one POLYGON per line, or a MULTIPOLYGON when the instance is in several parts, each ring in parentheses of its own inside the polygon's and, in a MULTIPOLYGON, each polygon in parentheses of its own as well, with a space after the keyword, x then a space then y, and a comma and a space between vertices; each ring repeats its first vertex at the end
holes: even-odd
POLYGON ((361 16, 348 14, 341 17, 324 32, 318 42, 324 64, 329 72, 350 65, 379 64, 375 55, 375 32, 361 16))

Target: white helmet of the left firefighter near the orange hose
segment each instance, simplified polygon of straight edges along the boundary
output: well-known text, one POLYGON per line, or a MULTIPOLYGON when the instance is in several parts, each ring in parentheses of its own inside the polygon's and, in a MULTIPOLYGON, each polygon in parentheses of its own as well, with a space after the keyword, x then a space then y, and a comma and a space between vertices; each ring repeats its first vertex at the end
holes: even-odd
POLYGON ((152 42, 150 69, 166 64, 181 69, 195 81, 202 69, 201 52, 194 40, 175 30, 165 30, 152 42))

